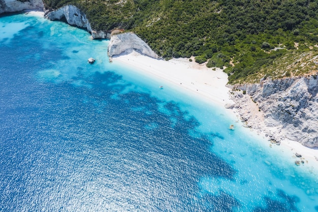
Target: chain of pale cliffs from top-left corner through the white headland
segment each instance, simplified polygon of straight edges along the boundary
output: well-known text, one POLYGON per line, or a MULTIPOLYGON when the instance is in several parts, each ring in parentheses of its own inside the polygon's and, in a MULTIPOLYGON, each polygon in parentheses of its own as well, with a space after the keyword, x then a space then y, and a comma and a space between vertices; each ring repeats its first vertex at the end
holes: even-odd
POLYGON ((158 58, 158 55, 134 33, 112 35, 111 32, 92 29, 85 13, 73 5, 67 5, 57 10, 45 10, 42 0, 29 0, 24 3, 16 0, 0 0, 0 14, 23 10, 44 11, 44 17, 49 20, 66 19, 70 25, 86 28, 92 39, 110 39, 108 51, 111 57, 135 50, 149 57, 158 58))

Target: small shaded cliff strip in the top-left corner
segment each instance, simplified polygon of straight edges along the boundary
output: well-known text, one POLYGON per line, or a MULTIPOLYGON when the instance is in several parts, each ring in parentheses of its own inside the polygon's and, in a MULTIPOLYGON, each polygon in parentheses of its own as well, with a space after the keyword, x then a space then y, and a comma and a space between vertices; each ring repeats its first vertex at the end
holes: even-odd
POLYGON ((22 10, 40 10, 43 11, 44 5, 42 0, 0 0, 0 14, 9 12, 19 12, 22 10))

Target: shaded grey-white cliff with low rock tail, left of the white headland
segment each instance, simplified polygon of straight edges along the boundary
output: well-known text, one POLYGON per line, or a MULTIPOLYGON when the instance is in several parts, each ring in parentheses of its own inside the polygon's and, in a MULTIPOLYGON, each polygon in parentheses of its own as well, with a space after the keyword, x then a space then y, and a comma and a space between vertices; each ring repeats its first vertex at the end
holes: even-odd
POLYGON ((86 28, 87 31, 91 33, 92 39, 110 38, 110 32, 96 31, 92 29, 85 13, 73 5, 67 5, 54 11, 46 11, 44 16, 49 20, 61 20, 65 18, 70 25, 86 28))

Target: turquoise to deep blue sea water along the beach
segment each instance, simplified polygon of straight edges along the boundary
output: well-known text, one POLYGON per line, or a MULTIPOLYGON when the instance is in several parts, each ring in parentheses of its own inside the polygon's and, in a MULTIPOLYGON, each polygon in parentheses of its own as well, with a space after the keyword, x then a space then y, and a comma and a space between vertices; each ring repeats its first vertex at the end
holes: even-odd
POLYGON ((89 36, 0 17, 0 211, 318 211, 311 162, 89 36))

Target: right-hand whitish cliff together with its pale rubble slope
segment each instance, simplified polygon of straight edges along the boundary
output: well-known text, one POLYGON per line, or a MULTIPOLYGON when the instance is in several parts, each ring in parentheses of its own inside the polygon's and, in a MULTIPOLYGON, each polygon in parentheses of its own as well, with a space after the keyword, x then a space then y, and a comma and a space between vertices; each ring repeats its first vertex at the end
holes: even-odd
POLYGON ((232 88, 245 90, 248 94, 234 91, 232 96, 237 103, 234 107, 248 127, 261 130, 276 141, 287 138, 310 148, 318 147, 316 75, 267 79, 258 84, 234 85, 232 88))

